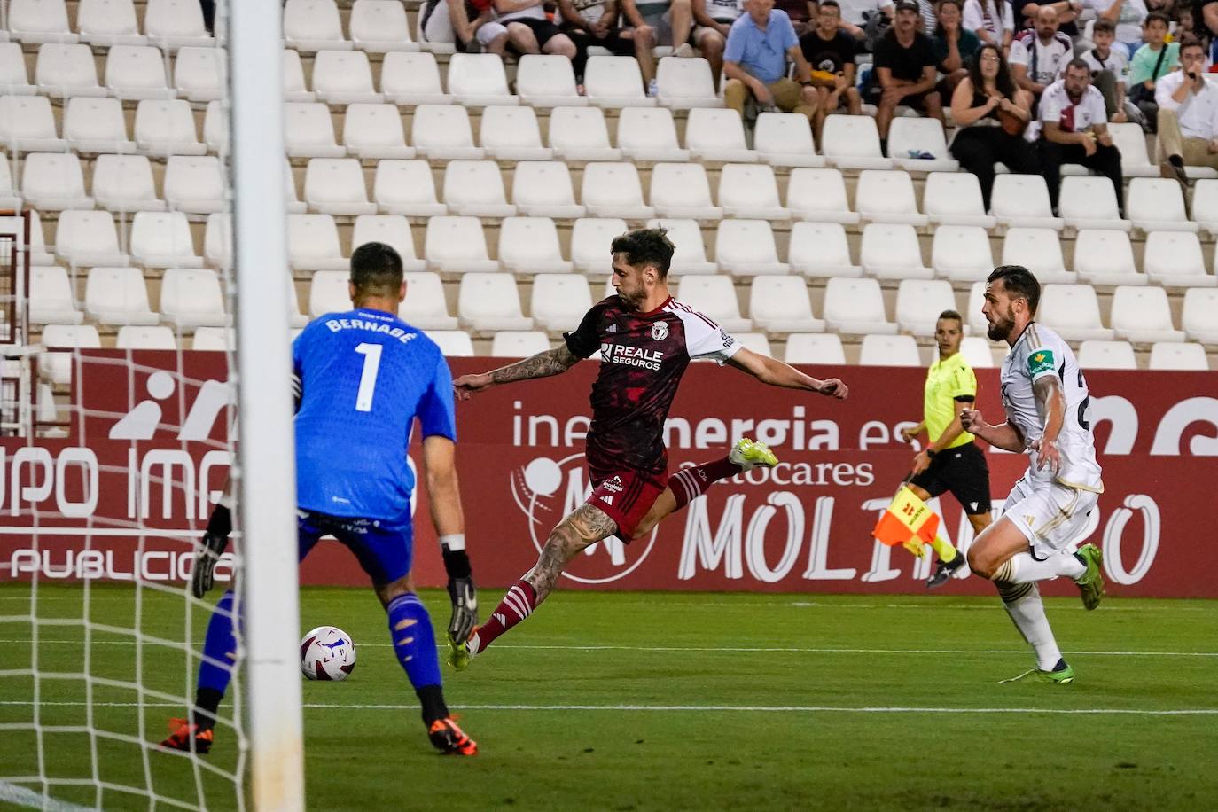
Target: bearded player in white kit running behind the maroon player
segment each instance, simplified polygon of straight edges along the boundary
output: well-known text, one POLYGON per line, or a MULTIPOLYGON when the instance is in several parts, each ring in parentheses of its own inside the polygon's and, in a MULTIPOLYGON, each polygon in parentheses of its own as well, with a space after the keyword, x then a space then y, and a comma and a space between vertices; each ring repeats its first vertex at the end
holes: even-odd
POLYGON ((991 446, 1027 452, 1030 460, 1006 498, 1002 517, 968 549, 968 566, 994 582, 1016 628, 1037 653, 1037 667, 1016 679, 1035 674, 1069 683, 1074 670, 1049 628, 1037 582, 1069 576, 1086 609, 1100 605, 1099 548, 1071 548, 1104 482, 1086 421, 1083 370, 1061 336, 1033 321, 1039 302, 1040 282, 1027 268, 1002 265, 989 275, 982 308, 987 335, 1011 347, 1001 376, 1006 422, 991 426, 977 409, 965 409, 960 422, 991 446))

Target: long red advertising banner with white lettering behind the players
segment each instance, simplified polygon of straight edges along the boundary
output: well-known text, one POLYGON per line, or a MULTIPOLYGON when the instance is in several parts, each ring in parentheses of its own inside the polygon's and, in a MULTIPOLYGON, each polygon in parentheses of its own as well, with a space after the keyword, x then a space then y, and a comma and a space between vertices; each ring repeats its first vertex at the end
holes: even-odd
MULTIPOLYGON (((233 419, 218 353, 96 351, 77 369, 78 414, 63 439, 0 448, 0 577, 177 582, 189 576, 230 464, 233 419)), ((493 365, 453 359, 454 375, 493 365)), ((480 586, 505 586, 536 561, 551 528, 588 493, 583 467, 594 362, 458 404, 466 537, 480 586)), ((921 592, 928 561, 875 543, 870 531, 909 470, 899 431, 921 419, 924 370, 821 368, 850 386, 845 402, 766 387, 693 364, 666 425, 670 471, 721 457, 736 437, 769 443, 782 463, 714 486, 632 544, 577 556, 563 588, 921 592)), ((979 408, 1000 418, 996 370, 978 370, 979 408)), ((1089 416, 1106 491, 1085 539, 1105 551, 1113 594, 1218 597, 1208 505, 1218 481, 1218 373, 1088 374, 1089 416)), ((995 509, 1027 458, 988 449, 995 509)), ((358 438, 352 438, 358 453, 358 438)), ((415 577, 443 583, 435 533, 417 515, 415 577)), ((971 527, 950 495, 933 500, 962 548, 971 527)), ((1084 541, 1080 538, 1079 541, 1084 541)), ((251 542, 256 543, 256 542, 251 542)), ((230 575, 222 566, 218 578, 230 575)), ((312 584, 363 584, 353 556, 320 544, 312 584)), ((979 578, 944 588, 990 594, 979 578)), ((1069 594, 1068 583, 1049 584, 1069 594)))

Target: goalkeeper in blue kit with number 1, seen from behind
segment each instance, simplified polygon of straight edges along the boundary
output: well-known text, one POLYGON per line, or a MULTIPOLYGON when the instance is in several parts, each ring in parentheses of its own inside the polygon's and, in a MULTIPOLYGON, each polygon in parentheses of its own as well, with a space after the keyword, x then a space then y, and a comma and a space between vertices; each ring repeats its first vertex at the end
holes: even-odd
MULTIPOLYGON (((432 746, 471 756, 477 745, 448 715, 431 618, 410 578, 415 482, 407 447, 418 418, 431 521, 453 601, 448 634, 454 642, 469 637, 477 600, 457 483, 452 375, 440 348, 395 315, 406 284, 393 248, 380 242, 359 246, 351 256, 350 292, 353 310, 315 319, 292 345, 300 559, 323 536, 356 555, 389 615, 393 653, 419 698, 432 746)), ((196 598, 212 587, 213 567, 231 530, 230 509, 222 502, 195 556, 196 598)), ((211 750, 216 711, 236 660, 239 616, 233 590, 225 592, 207 627, 192 717, 172 721, 173 733, 162 747, 211 750)))

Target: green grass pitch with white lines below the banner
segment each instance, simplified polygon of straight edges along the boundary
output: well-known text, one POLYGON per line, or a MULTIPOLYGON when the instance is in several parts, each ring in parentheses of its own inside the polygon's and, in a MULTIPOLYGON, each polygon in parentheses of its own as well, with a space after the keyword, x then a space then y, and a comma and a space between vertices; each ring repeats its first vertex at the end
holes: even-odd
MULTIPOLYGON (((482 590, 482 611, 499 598, 482 590)), ((79 618, 83 590, 41 587, 45 620, 79 618)), ((94 587, 90 617, 129 627, 132 589, 94 587)), ((447 595, 424 594, 438 626, 447 595)), ((1072 685, 998 684, 1032 666, 996 598, 558 593, 446 690, 474 758, 428 745, 369 590, 304 589, 301 628, 352 634, 343 683, 304 684, 307 797, 342 810, 1203 810, 1218 807, 1218 603, 1049 600, 1072 685)), ((184 601, 144 593, 145 634, 180 639, 184 601)), ((28 609, 7 584, 0 614, 28 609)), ((207 622, 195 611, 197 639, 207 622)), ((29 623, 9 622, 2 668, 29 667, 29 623)), ((437 631, 437 637, 441 632, 437 631)), ((194 665, 169 646, 43 625, 43 673, 132 679, 185 695, 194 665), (88 661, 85 656, 88 654, 88 661)), ((43 724, 90 722, 79 678, 39 681, 43 724)), ((33 679, 0 677, 0 773, 39 774, 33 679)), ((192 691, 191 691, 192 693, 192 691)), ((95 728, 163 737, 184 709, 93 684, 95 728)), ((223 706, 228 712, 230 705, 223 706)), ((233 771, 230 730, 207 762, 233 771)), ((41 774, 106 808, 169 801, 233 808, 233 785, 189 757, 83 732, 44 734, 41 774), (96 752, 96 757, 94 755, 96 752)), ((24 784, 40 791, 37 784, 24 784)), ((2 795, 0 795, 2 797, 2 795)))

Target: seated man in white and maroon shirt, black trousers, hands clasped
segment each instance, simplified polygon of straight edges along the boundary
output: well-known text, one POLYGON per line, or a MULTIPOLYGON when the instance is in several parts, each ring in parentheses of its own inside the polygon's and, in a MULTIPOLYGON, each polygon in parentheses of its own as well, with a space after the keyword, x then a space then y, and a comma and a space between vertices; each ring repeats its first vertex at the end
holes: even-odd
POLYGON ((1040 170, 1049 186, 1049 200, 1057 211, 1063 163, 1078 163, 1112 181, 1121 215, 1125 196, 1121 177, 1121 151, 1108 133, 1104 95, 1091 86, 1091 68, 1072 60, 1066 75, 1049 85, 1040 97, 1040 170))

